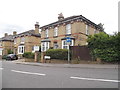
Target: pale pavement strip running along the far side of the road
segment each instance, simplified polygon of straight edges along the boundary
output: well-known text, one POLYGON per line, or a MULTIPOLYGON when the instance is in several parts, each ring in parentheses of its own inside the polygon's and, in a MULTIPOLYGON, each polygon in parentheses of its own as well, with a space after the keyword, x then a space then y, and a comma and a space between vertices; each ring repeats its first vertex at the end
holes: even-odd
POLYGON ((24 59, 12 61, 16 64, 42 66, 42 67, 63 67, 63 68, 101 68, 101 69, 118 69, 117 64, 53 64, 53 63, 38 63, 38 62, 24 62, 24 59))

